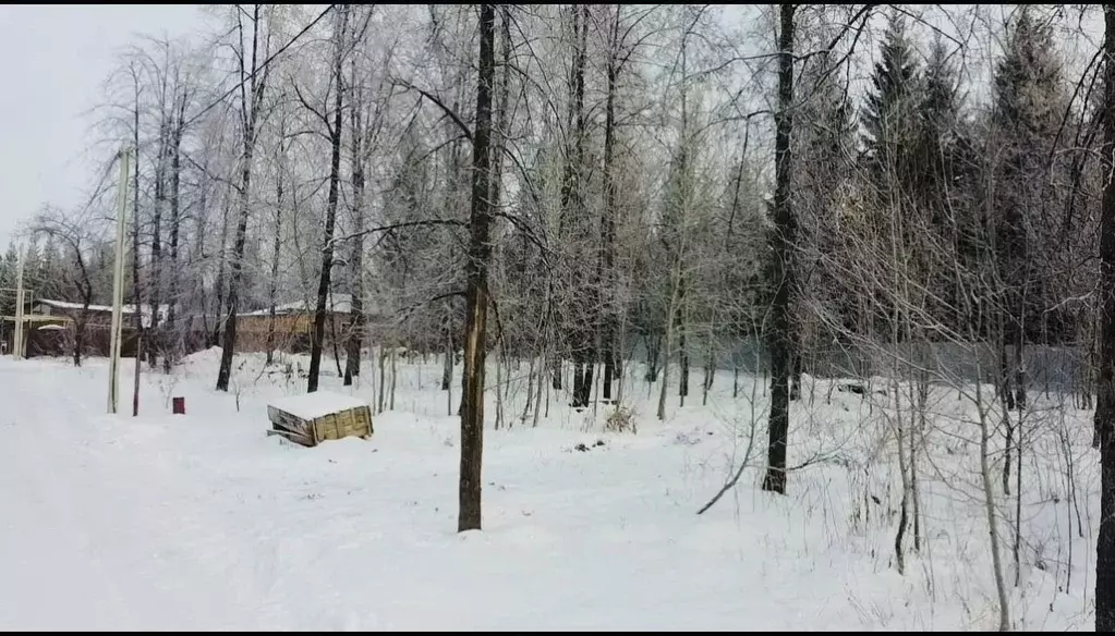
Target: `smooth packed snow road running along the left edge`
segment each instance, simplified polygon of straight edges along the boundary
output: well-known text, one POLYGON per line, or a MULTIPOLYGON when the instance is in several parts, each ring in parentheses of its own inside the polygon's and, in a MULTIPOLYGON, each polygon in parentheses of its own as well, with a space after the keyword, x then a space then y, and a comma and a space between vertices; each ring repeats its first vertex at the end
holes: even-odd
POLYGON ((215 617, 229 628, 256 625, 258 608, 237 605, 231 581, 206 570, 213 555, 157 549, 188 545, 196 529, 184 522, 182 493, 166 490, 173 480, 145 477, 148 458, 99 437, 98 418, 42 376, 51 372, 0 363, 9 405, 0 413, 0 564, 12 566, 0 576, 0 625, 194 629, 214 627, 215 617))

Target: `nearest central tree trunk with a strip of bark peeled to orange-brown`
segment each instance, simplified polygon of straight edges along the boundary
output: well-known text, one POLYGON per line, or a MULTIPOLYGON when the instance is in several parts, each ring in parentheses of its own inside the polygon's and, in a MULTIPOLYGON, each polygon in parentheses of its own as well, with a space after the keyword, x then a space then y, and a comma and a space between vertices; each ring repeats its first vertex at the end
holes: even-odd
POLYGON ((460 409, 460 483, 457 530, 481 529, 484 459, 484 358, 487 329, 488 261, 492 257, 488 195, 488 141, 495 79, 495 4, 481 4, 479 79, 473 134, 473 196, 468 261, 465 264, 465 371, 460 409))

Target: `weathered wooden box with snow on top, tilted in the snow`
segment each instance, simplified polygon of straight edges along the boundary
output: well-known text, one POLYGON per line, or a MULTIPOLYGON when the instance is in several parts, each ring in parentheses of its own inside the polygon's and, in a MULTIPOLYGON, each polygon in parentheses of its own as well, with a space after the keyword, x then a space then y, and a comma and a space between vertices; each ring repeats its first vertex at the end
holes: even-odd
POLYGON ((290 395, 268 404, 269 436, 282 436, 304 447, 347 437, 371 437, 371 409, 351 395, 328 391, 290 395))

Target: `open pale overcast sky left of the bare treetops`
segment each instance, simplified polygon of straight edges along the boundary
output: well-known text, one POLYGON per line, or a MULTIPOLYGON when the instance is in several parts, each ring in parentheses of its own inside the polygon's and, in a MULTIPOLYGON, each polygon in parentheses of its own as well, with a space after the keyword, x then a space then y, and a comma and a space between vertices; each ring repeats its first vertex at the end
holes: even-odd
POLYGON ((0 249, 45 202, 77 205, 89 118, 135 33, 193 33, 197 4, 0 6, 0 249))

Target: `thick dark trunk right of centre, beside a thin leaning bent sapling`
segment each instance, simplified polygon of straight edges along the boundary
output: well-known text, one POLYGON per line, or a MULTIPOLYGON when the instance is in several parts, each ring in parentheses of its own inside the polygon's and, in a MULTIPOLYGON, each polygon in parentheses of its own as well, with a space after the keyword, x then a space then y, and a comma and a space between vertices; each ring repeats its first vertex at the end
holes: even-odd
POLYGON ((786 443, 789 434, 789 294, 793 287, 792 251, 796 222, 791 208, 789 186, 793 155, 789 137, 794 129, 791 107, 794 101, 794 6, 779 7, 778 32, 778 111, 775 115, 775 203, 774 254, 770 284, 770 440, 767 448, 767 473, 763 490, 786 493, 786 443))

